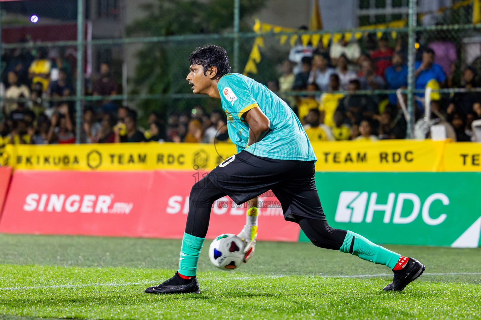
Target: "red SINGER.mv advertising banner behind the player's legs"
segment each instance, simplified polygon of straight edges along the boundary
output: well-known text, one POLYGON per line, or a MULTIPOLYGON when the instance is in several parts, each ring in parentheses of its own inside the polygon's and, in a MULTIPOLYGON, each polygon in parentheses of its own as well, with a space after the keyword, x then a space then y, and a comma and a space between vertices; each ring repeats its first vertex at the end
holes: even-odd
MULTIPOLYGON (((0 232, 181 238, 196 171, 15 170, 0 232)), ((259 240, 297 241, 273 194, 261 200, 259 240)), ((247 208, 225 197, 214 203, 207 238, 238 233, 247 208)))

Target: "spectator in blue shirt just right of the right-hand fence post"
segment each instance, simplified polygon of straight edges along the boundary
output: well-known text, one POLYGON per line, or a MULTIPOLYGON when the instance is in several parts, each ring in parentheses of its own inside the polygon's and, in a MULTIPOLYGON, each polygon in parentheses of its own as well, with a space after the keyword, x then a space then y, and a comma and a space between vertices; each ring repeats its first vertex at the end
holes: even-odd
MULTIPOLYGON (((431 48, 427 48, 422 54, 422 60, 416 61, 414 65, 414 76, 416 77, 416 89, 426 88, 426 84, 431 79, 436 80, 441 86, 444 85, 446 80, 446 75, 444 74, 443 68, 434 63, 434 51, 431 48)), ((424 93, 416 94, 418 97, 424 97, 424 93)), ((421 111, 424 111, 422 104, 418 102, 418 107, 421 111)))

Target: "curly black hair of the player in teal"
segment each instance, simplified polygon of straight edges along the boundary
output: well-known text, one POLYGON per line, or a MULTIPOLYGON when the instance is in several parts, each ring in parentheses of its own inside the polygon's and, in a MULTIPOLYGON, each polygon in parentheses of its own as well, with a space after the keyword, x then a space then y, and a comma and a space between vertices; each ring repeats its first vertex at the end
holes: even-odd
POLYGON ((223 47, 205 45, 203 48, 197 47, 189 56, 191 65, 200 64, 204 68, 204 75, 207 71, 215 66, 217 68, 217 76, 219 79, 224 74, 230 72, 230 63, 227 56, 227 51, 223 47))

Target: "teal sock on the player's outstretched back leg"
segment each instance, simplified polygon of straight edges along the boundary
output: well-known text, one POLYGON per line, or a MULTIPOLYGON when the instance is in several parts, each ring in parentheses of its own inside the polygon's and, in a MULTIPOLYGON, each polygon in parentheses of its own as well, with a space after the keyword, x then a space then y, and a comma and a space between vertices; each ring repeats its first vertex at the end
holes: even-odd
POLYGON ((378 246, 367 240, 365 237, 352 231, 347 231, 346 237, 344 238, 344 242, 339 251, 352 253, 363 260, 377 264, 384 264, 391 269, 396 266, 397 261, 401 257, 401 255, 396 252, 378 246), (351 247, 352 251, 350 251, 351 247))

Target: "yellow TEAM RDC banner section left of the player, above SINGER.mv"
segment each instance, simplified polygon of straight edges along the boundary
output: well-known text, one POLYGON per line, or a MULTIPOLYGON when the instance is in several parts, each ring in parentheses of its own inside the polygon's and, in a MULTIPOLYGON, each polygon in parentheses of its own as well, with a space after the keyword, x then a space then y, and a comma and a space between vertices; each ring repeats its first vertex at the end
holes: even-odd
POLYGON ((39 170, 210 170, 235 152, 230 143, 24 144, 7 145, 1 164, 39 170))

